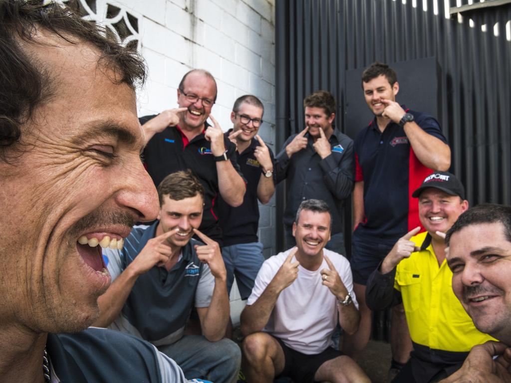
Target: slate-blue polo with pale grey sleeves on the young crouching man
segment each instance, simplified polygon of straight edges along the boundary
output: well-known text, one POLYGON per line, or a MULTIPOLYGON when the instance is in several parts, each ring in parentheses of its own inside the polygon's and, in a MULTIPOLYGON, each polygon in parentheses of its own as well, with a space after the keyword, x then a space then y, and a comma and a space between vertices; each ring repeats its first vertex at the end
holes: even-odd
MULTIPOLYGON (((108 271, 115 280, 156 236, 159 221, 151 226, 135 226, 124 241, 122 251, 103 249, 108 271)), ((108 326, 128 332, 156 346, 178 341, 195 307, 208 307, 215 288, 210 268, 203 264, 193 238, 181 248, 182 257, 167 271, 153 266, 138 276, 117 319, 108 326)))

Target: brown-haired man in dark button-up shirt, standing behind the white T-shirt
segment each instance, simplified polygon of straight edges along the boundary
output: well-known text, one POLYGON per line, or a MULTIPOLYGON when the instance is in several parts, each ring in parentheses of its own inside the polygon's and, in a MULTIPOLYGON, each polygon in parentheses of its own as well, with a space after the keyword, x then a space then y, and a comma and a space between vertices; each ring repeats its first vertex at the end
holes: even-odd
POLYGON ((305 129, 291 135, 275 158, 277 183, 287 179, 286 247, 295 245, 294 213, 302 201, 314 198, 327 202, 332 214, 332 238, 326 248, 345 254, 342 204, 355 179, 353 140, 333 126, 337 105, 330 92, 309 94, 304 108, 305 129))

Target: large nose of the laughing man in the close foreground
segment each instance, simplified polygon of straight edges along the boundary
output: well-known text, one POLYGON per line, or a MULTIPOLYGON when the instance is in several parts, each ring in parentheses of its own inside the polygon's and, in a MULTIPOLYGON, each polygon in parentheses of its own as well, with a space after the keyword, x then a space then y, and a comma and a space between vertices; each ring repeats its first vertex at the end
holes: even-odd
POLYGON ((140 158, 134 159, 134 162, 133 166, 127 166, 126 171, 118 175, 123 184, 117 201, 133 211, 137 221, 153 221, 158 216, 159 208, 156 187, 140 158))

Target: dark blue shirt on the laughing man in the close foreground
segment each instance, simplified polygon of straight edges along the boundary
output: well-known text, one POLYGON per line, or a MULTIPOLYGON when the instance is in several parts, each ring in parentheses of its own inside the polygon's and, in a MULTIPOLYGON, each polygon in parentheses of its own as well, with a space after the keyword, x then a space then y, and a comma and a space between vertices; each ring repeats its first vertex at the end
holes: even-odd
POLYGON ((52 381, 188 381, 167 355, 148 342, 118 331, 89 327, 74 334, 48 334, 46 348, 52 381))

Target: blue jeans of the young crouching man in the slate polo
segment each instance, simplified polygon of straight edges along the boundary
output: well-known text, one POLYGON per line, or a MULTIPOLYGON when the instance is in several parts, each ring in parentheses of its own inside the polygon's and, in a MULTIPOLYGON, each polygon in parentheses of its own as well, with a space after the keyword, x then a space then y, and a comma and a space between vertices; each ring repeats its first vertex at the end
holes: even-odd
POLYGON ((200 335, 185 335, 171 345, 159 346, 158 350, 172 358, 187 379, 231 383, 240 370, 241 350, 226 338, 210 342, 200 335))

